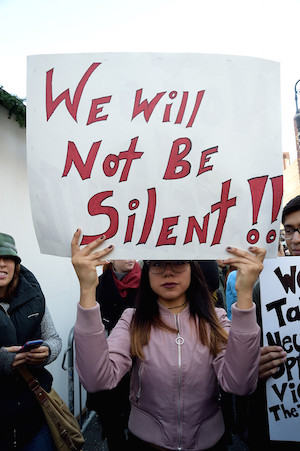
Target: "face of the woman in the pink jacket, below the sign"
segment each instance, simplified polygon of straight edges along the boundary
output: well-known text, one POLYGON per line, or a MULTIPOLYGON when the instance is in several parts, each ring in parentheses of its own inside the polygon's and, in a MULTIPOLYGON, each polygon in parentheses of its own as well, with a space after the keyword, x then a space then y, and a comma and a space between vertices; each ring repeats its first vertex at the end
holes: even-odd
POLYGON ((162 273, 156 274, 149 267, 149 282, 158 300, 166 307, 183 304, 186 301, 186 290, 191 283, 191 266, 186 264, 183 272, 176 272, 167 263, 162 273))

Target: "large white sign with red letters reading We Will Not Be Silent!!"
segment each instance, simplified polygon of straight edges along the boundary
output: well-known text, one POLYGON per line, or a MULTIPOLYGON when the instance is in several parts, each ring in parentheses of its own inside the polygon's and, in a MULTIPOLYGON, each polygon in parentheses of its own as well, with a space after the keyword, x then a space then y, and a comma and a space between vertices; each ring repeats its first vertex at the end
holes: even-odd
POLYGON ((112 258, 275 256, 279 64, 209 54, 28 57, 27 158, 42 253, 105 234, 112 258))

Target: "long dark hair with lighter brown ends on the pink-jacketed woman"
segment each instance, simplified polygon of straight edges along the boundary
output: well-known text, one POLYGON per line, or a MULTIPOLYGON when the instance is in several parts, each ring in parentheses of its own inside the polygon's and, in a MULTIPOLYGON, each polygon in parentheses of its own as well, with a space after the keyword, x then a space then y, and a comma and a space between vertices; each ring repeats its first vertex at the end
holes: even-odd
MULTIPOLYGON (((227 342, 228 334, 221 327, 216 314, 212 293, 209 292, 203 273, 196 261, 191 261, 191 283, 186 292, 190 315, 197 324, 199 340, 216 355, 227 342), (210 327, 208 327, 210 326, 210 327)), ((163 322, 159 315, 157 295, 150 286, 149 266, 144 264, 136 296, 136 311, 131 323, 131 353, 144 358, 143 347, 150 339, 151 326, 177 332, 163 322)))

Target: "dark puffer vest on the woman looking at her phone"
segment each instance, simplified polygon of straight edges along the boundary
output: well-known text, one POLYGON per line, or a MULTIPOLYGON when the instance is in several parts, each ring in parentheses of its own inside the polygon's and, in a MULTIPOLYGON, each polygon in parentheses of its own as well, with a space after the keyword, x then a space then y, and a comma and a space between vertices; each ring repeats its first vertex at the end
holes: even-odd
MULTIPOLYGON (((19 282, 7 313, 0 306, 0 347, 22 345, 41 338, 45 298, 34 275, 21 266, 19 282)), ((28 366, 46 391, 51 374, 41 367, 28 366)), ((42 410, 18 371, 0 374, 0 449, 18 449, 29 442, 45 424, 42 410)))

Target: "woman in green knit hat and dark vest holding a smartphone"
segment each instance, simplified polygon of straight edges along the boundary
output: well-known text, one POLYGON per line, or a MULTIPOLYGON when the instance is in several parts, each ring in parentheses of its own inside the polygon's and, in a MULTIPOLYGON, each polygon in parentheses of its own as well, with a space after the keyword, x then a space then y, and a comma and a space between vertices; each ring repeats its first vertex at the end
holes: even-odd
POLYGON ((60 353, 61 339, 38 281, 20 263, 13 237, 0 233, 0 449, 54 451, 43 411, 17 369, 28 365, 50 392, 44 367, 60 353))

